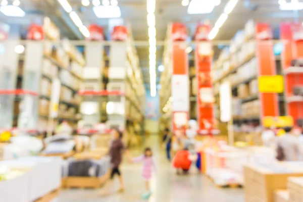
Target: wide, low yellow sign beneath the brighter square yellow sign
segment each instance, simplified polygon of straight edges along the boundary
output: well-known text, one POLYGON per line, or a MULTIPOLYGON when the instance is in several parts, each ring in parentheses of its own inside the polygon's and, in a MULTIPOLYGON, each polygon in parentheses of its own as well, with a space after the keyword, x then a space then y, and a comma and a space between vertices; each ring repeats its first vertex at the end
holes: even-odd
POLYGON ((291 116, 268 116, 263 118, 262 123, 264 127, 290 127, 293 126, 293 118, 291 116))

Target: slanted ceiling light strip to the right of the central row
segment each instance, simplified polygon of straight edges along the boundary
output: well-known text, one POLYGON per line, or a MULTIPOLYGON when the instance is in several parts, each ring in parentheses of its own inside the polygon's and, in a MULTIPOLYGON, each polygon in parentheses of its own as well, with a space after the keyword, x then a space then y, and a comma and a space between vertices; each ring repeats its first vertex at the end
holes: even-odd
POLYGON ((228 14, 230 14, 233 9, 235 8, 236 4, 238 3, 239 0, 229 0, 229 2, 226 4, 225 8, 224 8, 224 12, 223 14, 218 18, 215 26, 213 27, 213 29, 211 30, 210 34, 209 34, 209 39, 214 39, 220 28, 222 27, 222 25, 224 24, 224 22, 227 20, 228 18, 228 14))

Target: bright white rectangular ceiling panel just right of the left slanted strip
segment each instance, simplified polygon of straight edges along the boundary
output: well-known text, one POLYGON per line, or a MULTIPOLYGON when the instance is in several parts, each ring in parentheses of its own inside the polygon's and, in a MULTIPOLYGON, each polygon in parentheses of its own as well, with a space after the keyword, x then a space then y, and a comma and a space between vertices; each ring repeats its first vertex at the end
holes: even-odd
POLYGON ((119 6, 98 6, 92 8, 97 18, 120 18, 119 6))

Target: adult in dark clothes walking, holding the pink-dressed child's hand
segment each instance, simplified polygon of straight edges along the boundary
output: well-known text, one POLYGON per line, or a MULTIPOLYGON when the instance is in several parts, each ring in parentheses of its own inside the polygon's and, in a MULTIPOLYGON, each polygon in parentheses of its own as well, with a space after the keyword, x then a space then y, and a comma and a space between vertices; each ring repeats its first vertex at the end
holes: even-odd
POLYGON ((104 191, 102 195, 108 195, 109 194, 109 189, 113 185, 113 179, 115 175, 118 175, 119 181, 120 181, 120 188, 119 192, 124 191, 124 182, 122 178, 122 174, 120 172, 120 164, 122 162, 122 153, 125 150, 126 155, 129 155, 129 151, 126 149, 124 143, 122 142, 122 136, 123 133, 119 131, 118 129, 114 129, 112 132, 113 135, 113 140, 110 145, 110 157, 111 157, 111 165, 112 165, 112 170, 111 170, 111 176, 110 180, 104 187, 104 191))

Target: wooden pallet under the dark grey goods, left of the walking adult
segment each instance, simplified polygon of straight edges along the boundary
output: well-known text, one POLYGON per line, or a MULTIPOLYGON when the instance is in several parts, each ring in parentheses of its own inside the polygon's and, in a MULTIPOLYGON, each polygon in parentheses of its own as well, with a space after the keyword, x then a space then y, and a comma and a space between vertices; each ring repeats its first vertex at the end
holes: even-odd
POLYGON ((108 172, 103 177, 67 177, 65 180, 66 188, 92 188, 98 189, 109 179, 108 172))

